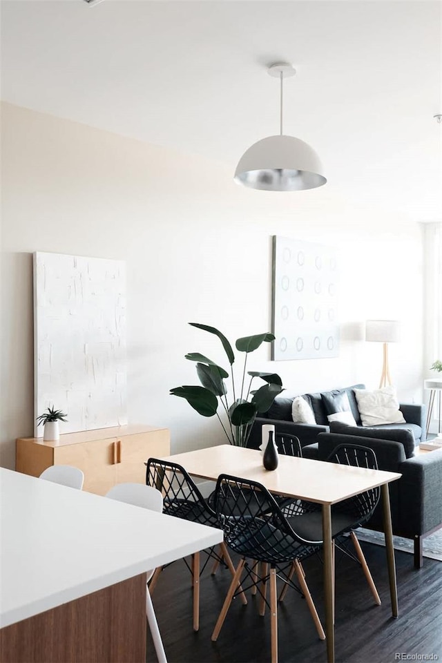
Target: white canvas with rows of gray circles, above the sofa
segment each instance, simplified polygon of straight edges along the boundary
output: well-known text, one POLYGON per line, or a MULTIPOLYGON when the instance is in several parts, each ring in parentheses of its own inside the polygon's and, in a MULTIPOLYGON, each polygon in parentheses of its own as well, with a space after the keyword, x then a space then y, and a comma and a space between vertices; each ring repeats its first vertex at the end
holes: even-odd
POLYGON ((273 236, 272 359, 337 357, 336 250, 273 236))

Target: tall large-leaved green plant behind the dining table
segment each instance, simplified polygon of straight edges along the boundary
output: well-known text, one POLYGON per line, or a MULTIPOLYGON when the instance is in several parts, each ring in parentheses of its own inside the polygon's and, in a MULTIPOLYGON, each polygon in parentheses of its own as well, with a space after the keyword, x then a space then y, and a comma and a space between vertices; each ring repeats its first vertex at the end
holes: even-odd
POLYGON ((215 334, 215 336, 218 336, 220 339, 231 366, 231 402, 229 403, 229 398, 227 397, 227 385, 224 382, 225 378, 229 378, 229 373, 221 366, 218 366, 217 363, 211 361, 211 359, 199 352, 186 354, 186 359, 196 362, 196 372, 198 378, 200 378, 202 387, 190 385, 174 387, 171 389, 171 395, 185 398, 189 405, 202 414, 202 416, 218 416, 229 442, 234 445, 245 447, 256 414, 258 412, 267 412, 276 396, 283 391, 281 378, 276 373, 248 371, 247 375, 250 376, 250 381, 248 385, 245 384, 247 357, 249 353, 260 347, 262 343, 270 343, 275 337, 273 334, 265 333, 255 334, 254 336, 244 336, 236 340, 236 349, 238 352, 244 352, 245 354, 241 387, 240 390, 237 390, 233 376, 235 354, 233 354, 233 349, 227 338, 224 334, 221 334, 218 329, 215 329, 215 327, 200 325, 198 323, 189 323, 189 325, 197 327, 198 329, 203 329, 210 334, 215 334), (262 385, 258 390, 251 391, 253 378, 260 378, 265 382, 265 385, 262 385), (250 396, 251 399, 249 400, 250 396), (220 414, 218 413, 218 405, 220 403, 227 416, 226 425, 224 425, 220 414))

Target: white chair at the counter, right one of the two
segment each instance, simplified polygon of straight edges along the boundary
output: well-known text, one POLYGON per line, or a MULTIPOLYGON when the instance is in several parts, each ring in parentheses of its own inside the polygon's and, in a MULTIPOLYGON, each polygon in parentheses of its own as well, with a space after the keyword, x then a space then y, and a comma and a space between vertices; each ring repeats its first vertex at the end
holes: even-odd
MULTIPOLYGON (((152 486, 145 486, 144 483, 117 483, 111 490, 106 492, 106 497, 116 499, 120 502, 133 504, 133 506, 141 506, 144 509, 151 509, 162 513, 163 510, 163 496, 160 490, 152 488, 152 486)), ((147 581, 153 576, 153 570, 148 571, 147 581)), ((157 653, 158 663, 167 663, 166 654, 158 628, 157 618, 153 610, 151 594, 149 588, 146 586, 146 616, 151 629, 153 644, 157 653)))

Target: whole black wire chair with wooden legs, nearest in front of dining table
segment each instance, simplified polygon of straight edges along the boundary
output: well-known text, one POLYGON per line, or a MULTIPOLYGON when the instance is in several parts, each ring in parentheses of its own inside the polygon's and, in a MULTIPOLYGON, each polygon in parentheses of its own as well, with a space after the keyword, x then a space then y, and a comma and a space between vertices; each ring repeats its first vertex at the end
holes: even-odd
MULTIPOLYGON (((220 526, 224 530, 224 540, 229 548, 241 556, 241 559, 213 630, 212 640, 218 639, 232 599, 238 594, 238 585, 243 573, 251 583, 244 590, 256 587, 261 595, 260 614, 264 614, 266 605, 270 607, 272 663, 278 660, 277 575, 305 596, 318 635, 324 640, 325 633, 300 567, 300 560, 313 555, 323 545, 323 541, 300 537, 267 488, 256 481, 220 474, 216 484, 214 504, 220 526), (251 560, 252 564, 249 564, 247 559, 251 560), (256 570, 257 561, 260 562, 260 576, 256 570), (300 590, 291 579, 287 579, 287 569, 291 568, 292 564, 296 570, 300 590), (267 583, 270 586, 270 604, 266 599, 267 583)), ((300 519, 302 517, 294 521, 298 522, 300 519)))

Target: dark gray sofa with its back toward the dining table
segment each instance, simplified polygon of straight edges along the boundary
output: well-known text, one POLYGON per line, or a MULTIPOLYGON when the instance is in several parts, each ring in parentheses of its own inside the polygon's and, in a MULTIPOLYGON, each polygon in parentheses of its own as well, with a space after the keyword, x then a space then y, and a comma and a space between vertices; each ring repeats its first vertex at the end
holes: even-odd
MULTIPOLYGON (((393 534, 414 541, 414 566, 423 564, 422 541, 442 527, 442 449, 414 455, 414 439, 407 430, 359 428, 331 424, 330 433, 318 434, 317 442, 302 449, 305 458, 325 461, 339 444, 372 448, 378 468, 400 472, 390 483, 393 534)), ((364 526, 383 531, 382 504, 364 526)))

